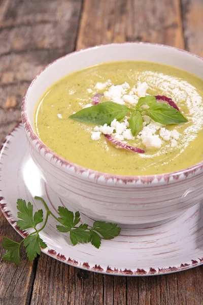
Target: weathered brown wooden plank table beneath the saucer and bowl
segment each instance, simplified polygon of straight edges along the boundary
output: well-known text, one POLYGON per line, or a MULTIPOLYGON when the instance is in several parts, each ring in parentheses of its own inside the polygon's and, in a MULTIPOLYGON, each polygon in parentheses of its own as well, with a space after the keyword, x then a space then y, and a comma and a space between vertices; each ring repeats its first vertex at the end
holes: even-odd
MULTIPOLYGON (((124 41, 172 45, 203 57, 203 1, 1 0, 0 142, 20 120, 25 89, 44 66, 76 49, 124 41)), ((21 239, 0 212, 0 242, 4 235, 21 239)), ((202 271, 114 277, 44 254, 30 263, 23 254, 18 267, 0 261, 0 304, 201 305, 202 271)))

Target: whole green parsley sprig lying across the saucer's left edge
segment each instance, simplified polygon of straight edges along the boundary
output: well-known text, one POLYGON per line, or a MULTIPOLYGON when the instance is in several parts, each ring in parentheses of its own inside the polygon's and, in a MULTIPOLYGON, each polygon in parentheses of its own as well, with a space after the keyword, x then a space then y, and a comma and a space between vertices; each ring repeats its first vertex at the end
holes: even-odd
POLYGON ((46 209, 46 217, 41 228, 38 225, 43 222, 43 210, 40 209, 33 214, 33 205, 28 202, 26 204, 25 200, 17 200, 18 209, 18 221, 17 225, 21 230, 34 229, 29 235, 27 235, 20 242, 9 239, 6 236, 2 242, 4 249, 7 252, 3 255, 3 259, 9 262, 14 262, 16 265, 20 264, 20 248, 23 245, 26 248, 26 255, 29 261, 34 260, 37 254, 41 254, 41 248, 47 248, 46 243, 40 237, 39 233, 45 228, 49 216, 52 216, 57 220, 60 225, 56 228, 58 231, 66 233, 70 232, 70 239, 73 246, 77 243, 91 242, 97 249, 101 245, 101 237, 104 239, 113 239, 120 233, 120 228, 117 224, 107 223, 103 221, 95 221, 93 227, 87 224, 79 224, 80 222, 80 212, 74 213, 63 206, 58 207, 58 215, 56 217, 48 208, 46 202, 43 198, 36 196, 35 199, 42 201, 46 209))

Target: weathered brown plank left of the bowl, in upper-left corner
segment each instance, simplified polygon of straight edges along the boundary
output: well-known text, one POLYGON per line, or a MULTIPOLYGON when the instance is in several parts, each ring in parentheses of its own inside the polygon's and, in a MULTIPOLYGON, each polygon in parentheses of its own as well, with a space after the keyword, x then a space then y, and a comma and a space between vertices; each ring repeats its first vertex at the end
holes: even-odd
POLYGON ((32 78, 74 50, 81 5, 82 0, 0 4, 0 142, 20 120, 22 97, 32 78))

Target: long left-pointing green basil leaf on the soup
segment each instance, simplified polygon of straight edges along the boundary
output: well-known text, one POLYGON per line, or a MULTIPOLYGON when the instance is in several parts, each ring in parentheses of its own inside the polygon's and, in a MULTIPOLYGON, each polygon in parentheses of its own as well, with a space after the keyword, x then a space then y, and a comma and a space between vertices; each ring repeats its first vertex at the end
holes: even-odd
POLYGON ((69 117, 84 123, 109 125, 115 118, 118 121, 121 120, 128 111, 129 110, 125 105, 120 105, 114 102, 105 102, 84 108, 69 117))

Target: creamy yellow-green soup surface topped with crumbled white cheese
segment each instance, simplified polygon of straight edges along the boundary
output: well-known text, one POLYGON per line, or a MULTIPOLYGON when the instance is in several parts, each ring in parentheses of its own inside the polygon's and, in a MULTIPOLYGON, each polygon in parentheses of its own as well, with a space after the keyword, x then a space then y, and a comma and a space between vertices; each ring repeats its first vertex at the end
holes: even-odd
POLYGON ((47 90, 36 111, 36 131, 59 156, 86 168, 121 175, 172 172, 203 159, 202 98, 203 80, 186 71, 150 62, 101 64, 67 75, 47 90), (146 140, 142 130, 136 137, 129 135, 126 117, 124 132, 116 129, 112 136, 145 153, 118 149, 99 126, 69 118, 91 106, 97 93, 104 94, 101 103, 113 101, 129 108, 140 97, 164 95, 173 99, 188 122, 159 126, 145 116, 143 128, 152 130, 146 140))

